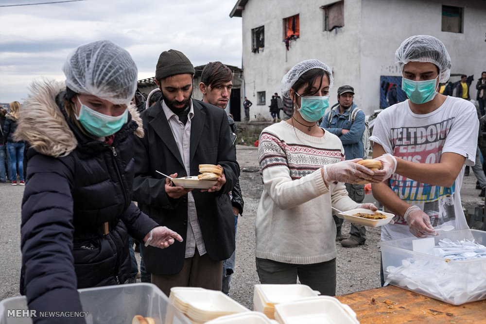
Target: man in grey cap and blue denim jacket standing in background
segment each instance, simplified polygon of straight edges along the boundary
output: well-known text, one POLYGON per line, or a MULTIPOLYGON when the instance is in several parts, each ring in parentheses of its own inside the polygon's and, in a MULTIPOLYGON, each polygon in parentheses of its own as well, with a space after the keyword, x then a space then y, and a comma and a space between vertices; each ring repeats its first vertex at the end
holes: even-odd
MULTIPOLYGON (((343 143, 347 160, 364 157, 364 147, 361 137, 364 132, 364 112, 353 102, 354 88, 350 85, 343 85, 337 89, 337 101, 331 107, 330 112, 324 115, 321 127, 336 135, 343 143), (355 109, 358 109, 354 112, 355 109)), ((364 200, 364 185, 345 184, 349 198, 356 203, 364 200)), ((366 241, 366 229, 364 226, 351 224, 350 236, 344 239, 341 234, 343 220, 334 217, 336 223, 336 240, 341 241, 344 247, 355 247, 363 245, 366 241)))

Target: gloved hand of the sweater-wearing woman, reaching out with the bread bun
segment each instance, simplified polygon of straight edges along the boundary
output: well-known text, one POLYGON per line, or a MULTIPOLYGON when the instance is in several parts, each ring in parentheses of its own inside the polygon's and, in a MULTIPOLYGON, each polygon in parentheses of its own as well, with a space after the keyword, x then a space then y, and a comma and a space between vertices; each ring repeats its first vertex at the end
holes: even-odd
POLYGON ((334 181, 359 184, 363 180, 367 182, 377 182, 373 180, 373 171, 357 164, 362 159, 346 160, 334 164, 328 164, 323 168, 323 179, 328 184, 334 181))

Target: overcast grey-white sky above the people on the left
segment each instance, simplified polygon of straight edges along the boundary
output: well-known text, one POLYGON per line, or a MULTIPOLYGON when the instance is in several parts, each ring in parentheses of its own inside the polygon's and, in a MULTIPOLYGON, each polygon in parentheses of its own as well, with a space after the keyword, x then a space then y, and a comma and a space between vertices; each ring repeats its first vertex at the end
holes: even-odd
POLYGON ((27 97, 41 77, 64 80, 62 66, 81 44, 107 39, 130 52, 139 80, 155 75, 162 51, 182 51, 194 66, 241 67, 242 20, 236 0, 0 0, 0 102, 27 97))

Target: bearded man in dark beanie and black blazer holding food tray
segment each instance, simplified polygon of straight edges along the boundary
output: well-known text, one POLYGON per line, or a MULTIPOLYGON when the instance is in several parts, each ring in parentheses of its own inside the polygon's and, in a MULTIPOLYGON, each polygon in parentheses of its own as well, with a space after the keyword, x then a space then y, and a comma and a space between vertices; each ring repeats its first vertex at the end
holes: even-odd
POLYGON ((135 154, 134 199, 139 208, 156 222, 171 224, 184 239, 173 249, 164 249, 172 251, 142 246, 152 283, 166 295, 175 286, 221 290, 223 260, 235 250, 227 193, 240 168, 225 111, 191 99, 193 76, 194 67, 182 52, 160 54, 155 82, 162 97, 140 115, 145 136, 135 154), (212 188, 177 187, 156 172, 173 178, 195 176, 199 164, 223 168, 212 188))

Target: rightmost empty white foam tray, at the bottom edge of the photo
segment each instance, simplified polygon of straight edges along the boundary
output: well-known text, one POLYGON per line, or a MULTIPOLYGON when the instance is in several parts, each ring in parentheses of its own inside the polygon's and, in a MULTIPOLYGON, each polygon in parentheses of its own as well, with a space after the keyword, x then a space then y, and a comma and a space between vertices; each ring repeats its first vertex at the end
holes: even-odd
POLYGON ((356 313, 330 296, 316 296, 275 305, 280 324, 359 324, 356 313))

